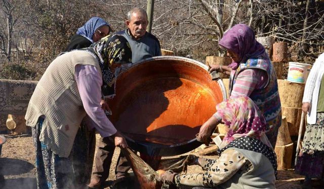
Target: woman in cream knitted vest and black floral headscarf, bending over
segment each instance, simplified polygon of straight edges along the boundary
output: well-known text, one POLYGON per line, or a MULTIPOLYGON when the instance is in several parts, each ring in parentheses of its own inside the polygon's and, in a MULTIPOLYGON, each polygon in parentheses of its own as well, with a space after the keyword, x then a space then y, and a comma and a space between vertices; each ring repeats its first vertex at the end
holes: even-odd
POLYGON ((90 144, 87 137, 91 135, 75 140, 86 115, 89 133, 96 129, 102 137, 111 137, 115 146, 127 147, 100 101, 102 94, 114 96, 115 70, 131 58, 127 40, 112 35, 51 62, 31 96, 25 116, 36 149, 37 188, 87 187, 87 180, 81 179, 84 173, 77 166, 86 165, 85 154, 94 143, 90 144))

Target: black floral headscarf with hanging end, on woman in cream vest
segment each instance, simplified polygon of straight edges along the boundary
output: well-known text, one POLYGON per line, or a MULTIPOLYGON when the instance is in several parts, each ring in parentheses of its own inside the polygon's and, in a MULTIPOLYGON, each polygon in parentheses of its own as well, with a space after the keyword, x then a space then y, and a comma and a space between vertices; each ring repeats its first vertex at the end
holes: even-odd
POLYGON ((121 35, 108 35, 93 43, 86 50, 93 52, 99 59, 102 72, 103 87, 110 94, 104 94, 108 98, 115 96, 115 81, 117 73, 112 73, 110 66, 113 63, 130 64, 132 62, 131 46, 125 37, 121 35))

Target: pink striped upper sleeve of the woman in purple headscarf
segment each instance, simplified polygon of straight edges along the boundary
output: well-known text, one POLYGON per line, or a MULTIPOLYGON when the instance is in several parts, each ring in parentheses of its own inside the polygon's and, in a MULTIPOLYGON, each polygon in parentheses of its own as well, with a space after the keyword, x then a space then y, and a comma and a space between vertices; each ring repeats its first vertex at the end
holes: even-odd
POLYGON ((238 74, 231 97, 250 96, 251 93, 267 82, 260 69, 247 69, 238 74))

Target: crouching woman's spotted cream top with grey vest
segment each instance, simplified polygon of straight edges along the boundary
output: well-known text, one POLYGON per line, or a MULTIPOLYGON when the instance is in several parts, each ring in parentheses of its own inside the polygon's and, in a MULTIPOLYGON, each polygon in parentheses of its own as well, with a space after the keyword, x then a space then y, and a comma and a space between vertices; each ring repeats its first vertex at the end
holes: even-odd
POLYGON ((275 188, 274 170, 261 153, 229 148, 217 160, 204 159, 204 172, 175 176, 175 184, 212 188, 257 189, 275 188))

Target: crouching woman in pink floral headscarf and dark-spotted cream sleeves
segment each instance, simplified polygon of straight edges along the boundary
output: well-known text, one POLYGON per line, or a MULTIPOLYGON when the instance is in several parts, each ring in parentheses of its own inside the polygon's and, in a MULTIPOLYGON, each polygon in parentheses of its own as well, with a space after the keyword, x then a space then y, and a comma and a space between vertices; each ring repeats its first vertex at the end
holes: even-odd
POLYGON ((206 142, 215 125, 224 122, 229 131, 220 145, 220 157, 211 160, 190 155, 190 164, 200 165, 204 172, 158 171, 157 179, 177 187, 275 188, 276 156, 265 136, 266 120, 259 108, 249 97, 232 97, 216 108, 217 112, 201 126, 197 140, 206 142))

